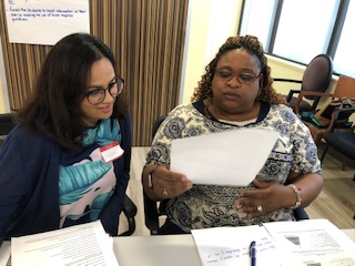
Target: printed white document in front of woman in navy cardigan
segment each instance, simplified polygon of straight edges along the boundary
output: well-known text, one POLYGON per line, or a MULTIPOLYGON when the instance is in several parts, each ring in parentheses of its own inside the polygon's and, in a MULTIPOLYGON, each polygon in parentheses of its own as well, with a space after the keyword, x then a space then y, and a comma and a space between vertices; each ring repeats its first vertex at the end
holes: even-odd
POLYGON ((100 221, 11 238, 12 266, 119 265, 100 221))

